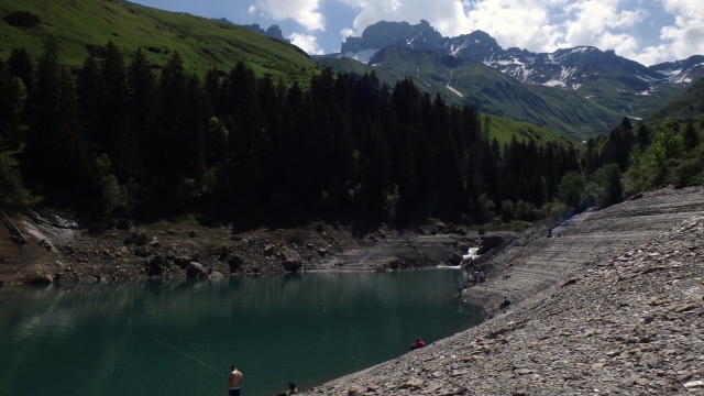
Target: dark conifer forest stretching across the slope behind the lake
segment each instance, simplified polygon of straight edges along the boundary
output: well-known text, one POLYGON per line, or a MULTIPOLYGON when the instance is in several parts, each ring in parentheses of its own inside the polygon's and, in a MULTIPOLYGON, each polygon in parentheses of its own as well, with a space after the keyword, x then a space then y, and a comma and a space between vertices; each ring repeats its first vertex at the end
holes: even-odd
POLYGON ((486 223, 702 175, 693 123, 650 132, 625 119, 582 155, 550 142, 499 145, 475 108, 408 78, 392 88, 373 74, 322 72, 288 86, 243 63, 200 77, 178 53, 156 72, 141 50, 124 55, 111 43, 69 69, 59 51, 48 38, 37 59, 20 48, 0 62, 3 208, 486 223), (670 151, 652 154, 657 145, 670 151), (686 177, 667 170, 682 162, 686 177), (662 164, 666 174, 640 175, 662 164))

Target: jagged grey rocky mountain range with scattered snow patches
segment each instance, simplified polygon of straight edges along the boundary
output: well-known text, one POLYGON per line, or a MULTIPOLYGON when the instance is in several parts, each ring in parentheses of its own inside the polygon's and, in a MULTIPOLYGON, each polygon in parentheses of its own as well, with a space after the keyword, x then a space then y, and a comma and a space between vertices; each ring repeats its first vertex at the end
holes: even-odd
POLYGON ((342 43, 342 56, 367 63, 386 46, 431 51, 461 59, 481 62, 527 84, 578 89, 590 76, 610 74, 638 92, 657 85, 690 84, 704 74, 704 62, 670 63, 646 67, 618 56, 613 50, 594 46, 562 48, 552 53, 532 53, 518 47, 503 50, 496 40, 483 31, 457 37, 443 37, 428 21, 411 25, 407 22, 378 22, 364 30, 361 37, 348 37, 342 43), (630 76, 630 77, 626 77, 630 76))

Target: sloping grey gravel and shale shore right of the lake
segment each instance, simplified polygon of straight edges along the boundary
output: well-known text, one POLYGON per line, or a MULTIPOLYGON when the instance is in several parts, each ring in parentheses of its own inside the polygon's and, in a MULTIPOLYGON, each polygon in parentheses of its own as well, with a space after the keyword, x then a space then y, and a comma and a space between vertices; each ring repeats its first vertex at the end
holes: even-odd
POLYGON ((542 231, 488 258, 490 280, 465 290, 492 319, 306 394, 704 394, 703 189, 542 231))

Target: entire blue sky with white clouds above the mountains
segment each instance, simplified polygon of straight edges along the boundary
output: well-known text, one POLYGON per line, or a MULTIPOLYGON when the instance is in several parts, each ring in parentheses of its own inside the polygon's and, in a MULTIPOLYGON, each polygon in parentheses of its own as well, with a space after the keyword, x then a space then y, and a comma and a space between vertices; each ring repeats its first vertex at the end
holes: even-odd
POLYGON ((278 24, 309 54, 340 51, 378 21, 428 21, 443 36, 482 30, 504 47, 614 50, 644 65, 704 55, 701 0, 132 0, 167 11, 278 24))

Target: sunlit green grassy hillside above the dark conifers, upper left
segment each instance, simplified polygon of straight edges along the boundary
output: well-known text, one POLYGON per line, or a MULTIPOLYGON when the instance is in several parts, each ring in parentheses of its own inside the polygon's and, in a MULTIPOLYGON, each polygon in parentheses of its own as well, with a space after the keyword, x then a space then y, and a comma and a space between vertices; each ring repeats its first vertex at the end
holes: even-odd
POLYGON ((0 15, 3 59, 19 47, 36 57, 45 37, 54 35, 61 45, 59 62, 74 66, 80 65, 89 51, 113 42, 125 54, 143 48, 154 68, 177 51, 186 68, 199 75, 213 67, 229 70, 240 61, 258 75, 287 81, 307 81, 317 70, 315 62, 289 43, 235 24, 128 1, 0 0, 0 15))

